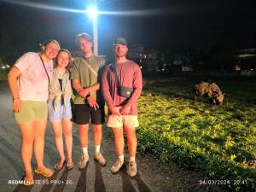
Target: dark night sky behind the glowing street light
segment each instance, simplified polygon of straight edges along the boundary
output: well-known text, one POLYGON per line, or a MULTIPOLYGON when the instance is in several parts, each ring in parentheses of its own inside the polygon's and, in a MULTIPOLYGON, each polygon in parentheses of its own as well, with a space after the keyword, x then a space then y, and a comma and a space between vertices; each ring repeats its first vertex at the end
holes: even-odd
MULTIPOLYGON (((38 44, 49 38, 61 42, 67 49, 78 49, 75 36, 79 32, 92 34, 92 21, 87 15, 64 11, 26 7, 0 0, 1 47, 13 49, 24 42, 38 44), (7 40, 8 39, 8 40, 7 40)), ((26 2, 26 1, 17 1, 26 2)), ((86 9, 93 1, 34 0, 67 9, 86 9)), ((146 49, 201 49, 207 51, 216 44, 233 49, 256 47, 256 1, 247 0, 103 0, 104 11, 134 11, 140 15, 100 15, 99 50, 109 53, 113 37, 122 35, 129 44, 145 44, 146 49), (152 15, 148 14, 151 13, 152 15)), ((27 51, 33 47, 28 47, 27 51)), ((23 49, 26 49, 24 47, 23 49)))

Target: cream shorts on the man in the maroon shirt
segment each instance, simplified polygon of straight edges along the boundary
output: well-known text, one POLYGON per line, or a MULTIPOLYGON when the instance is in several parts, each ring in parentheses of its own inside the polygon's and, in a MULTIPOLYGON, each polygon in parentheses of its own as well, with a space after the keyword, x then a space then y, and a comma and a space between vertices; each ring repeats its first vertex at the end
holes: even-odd
POLYGON ((139 126, 137 115, 109 115, 108 116, 108 127, 137 127, 139 126))

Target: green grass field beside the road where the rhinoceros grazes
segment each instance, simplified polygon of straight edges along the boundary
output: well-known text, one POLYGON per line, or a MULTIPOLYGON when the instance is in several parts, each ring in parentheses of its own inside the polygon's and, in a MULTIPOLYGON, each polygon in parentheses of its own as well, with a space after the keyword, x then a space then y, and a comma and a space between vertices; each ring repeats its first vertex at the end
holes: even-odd
POLYGON ((205 172, 230 190, 256 191, 255 79, 212 79, 225 91, 223 106, 192 100, 198 80, 146 80, 138 104, 139 150, 205 172))

